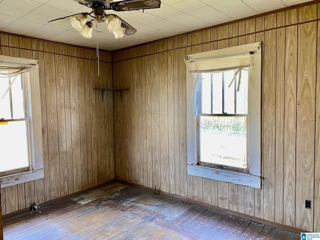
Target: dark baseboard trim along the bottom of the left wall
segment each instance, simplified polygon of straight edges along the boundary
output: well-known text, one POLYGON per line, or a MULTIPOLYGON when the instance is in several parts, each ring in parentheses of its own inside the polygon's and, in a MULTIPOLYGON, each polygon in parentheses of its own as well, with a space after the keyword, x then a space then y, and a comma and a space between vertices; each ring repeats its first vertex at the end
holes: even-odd
MULTIPOLYGON (((49 201, 41 202, 41 203, 39 203, 39 206, 40 207, 47 206, 47 205, 53 204, 55 202, 65 200, 67 198, 76 196, 78 194, 81 194, 81 193, 84 193, 84 192, 87 192, 87 191, 94 190, 94 189, 96 189, 98 187, 101 187, 101 186, 104 186, 104 185, 107 185, 107 184, 110 184, 110 183, 113 183, 113 182, 116 182, 116 181, 113 179, 113 180, 106 181, 104 183, 101 183, 101 184, 98 184, 98 185, 95 185, 95 186, 88 187, 88 188, 80 190, 80 191, 76 191, 76 192, 73 192, 73 193, 58 197, 58 198, 54 198, 54 199, 49 200, 49 201)), ((25 207, 25 208, 19 209, 17 211, 12 211, 10 213, 6 213, 6 214, 2 215, 2 219, 6 219, 6 218, 9 218, 11 216, 15 216, 15 215, 18 215, 18 214, 21 214, 21 213, 24 213, 24 212, 28 212, 28 211, 30 211, 30 207, 25 207)))

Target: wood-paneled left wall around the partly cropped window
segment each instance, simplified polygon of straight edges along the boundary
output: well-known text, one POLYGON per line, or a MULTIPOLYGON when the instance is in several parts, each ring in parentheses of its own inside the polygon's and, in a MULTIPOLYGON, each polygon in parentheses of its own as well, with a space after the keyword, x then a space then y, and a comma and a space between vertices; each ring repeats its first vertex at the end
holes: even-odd
POLYGON ((0 34, 0 54, 39 60, 44 178, 1 188, 2 214, 114 179, 111 53, 0 34))

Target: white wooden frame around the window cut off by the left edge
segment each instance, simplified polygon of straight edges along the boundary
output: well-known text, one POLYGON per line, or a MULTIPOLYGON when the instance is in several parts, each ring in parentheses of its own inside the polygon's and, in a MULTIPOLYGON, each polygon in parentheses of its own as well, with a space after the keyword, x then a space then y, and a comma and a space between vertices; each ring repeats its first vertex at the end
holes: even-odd
MULTIPOLYGON (((27 59, 21 57, 0 55, 0 63, 13 63, 21 65, 33 65, 28 74, 24 77, 29 77, 29 129, 30 129, 30 156, 31 170, 23 171, 11 175, 1 176, 0 184, 2 187, 7 187, 31 180, 36 180, 44 177, 43 173, 43 148, 42 148, 42 121, 41 121, 41 104, 40 104, 40 81, 39 81, 39 66, 38 60, 27 59)), ((10 159, 8 159, 10 160, 10 159)))

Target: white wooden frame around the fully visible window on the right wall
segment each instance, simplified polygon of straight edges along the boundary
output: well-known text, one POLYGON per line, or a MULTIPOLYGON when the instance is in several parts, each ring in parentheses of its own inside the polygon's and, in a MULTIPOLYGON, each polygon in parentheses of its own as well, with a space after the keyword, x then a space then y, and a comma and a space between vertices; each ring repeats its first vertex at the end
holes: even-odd
POLYGON ((187 174, 261 188, 261 42, 190 54, 186 57, 187 174), (196 115, 194 90, 196 79, 188 70, 189 59, 208 59, 253 52, 248 71, 247 164, 248 172, 236 172, 197 165, 196 115), (253 90, 252 90, 253 89, 253 90))

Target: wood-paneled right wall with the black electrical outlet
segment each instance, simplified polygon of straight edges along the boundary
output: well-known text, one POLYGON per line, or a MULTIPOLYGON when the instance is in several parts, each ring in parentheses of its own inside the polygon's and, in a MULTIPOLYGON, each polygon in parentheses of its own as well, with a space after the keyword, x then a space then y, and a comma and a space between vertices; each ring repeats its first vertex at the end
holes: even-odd
POLYGON ((112 53, 116 179, 320 231, 317 4, 112 53), (186 54, 263 42, 262 189, 186 173, 186 54), (119 93, 116 93, 119 94, 119 93), (311 209, 305 208, 311 200, 311 209))

